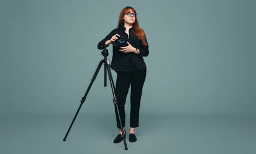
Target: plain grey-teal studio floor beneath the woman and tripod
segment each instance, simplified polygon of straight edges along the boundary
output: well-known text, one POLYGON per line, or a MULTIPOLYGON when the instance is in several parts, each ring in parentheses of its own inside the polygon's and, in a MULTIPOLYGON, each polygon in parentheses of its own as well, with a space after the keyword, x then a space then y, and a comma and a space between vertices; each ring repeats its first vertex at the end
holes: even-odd
MULTIPOLYGON (((0 153, 255 153, 256 117, 140 115, 137 142, 113 143, 114 114, 1 115, 0 153)), ((129 116, 126 131, 129 131, 129 116)))

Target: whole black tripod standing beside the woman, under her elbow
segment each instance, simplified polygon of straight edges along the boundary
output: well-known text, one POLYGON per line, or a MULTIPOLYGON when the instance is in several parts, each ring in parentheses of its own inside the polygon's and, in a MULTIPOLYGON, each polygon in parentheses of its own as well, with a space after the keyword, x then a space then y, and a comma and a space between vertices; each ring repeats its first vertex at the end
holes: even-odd
MULTIPOLYGON (((72 120, 71 125, 68 128, 68 132, 66 132, 66 135, 65 135, 65 138, 63 139, 63 141, 66 141, 66 137, 68 136, 68 133, 70 132, 70 129, 71 129, 71 127, 72 127, 72 125, 73 125, 73 123, 74 123, 74 121, 76 119, 76 116, 78 115, 78 112, 80 111, 83 102, 85 102, 86 96, 89 93, 89 89, 91 88, 91 85, 93 84, 94 79, 98 75, 99 69, 101 69, 101 65, 103 63, 104 63, 104 86, 105 87, 107 86, 107 83, 106 83, 106 81, 107 81, 106 71, 107 71, 107 73, 109 75, 109 80, 110 80, 110 83, 111 83, 112 93, 113 93, 113 96, 114 96, 113 102, 114 102, 114 105, 117 108, 117 114, 118 114, 119 122, 120 122, 120 125, 121 125, 121 128, 122 128, 122 122, 121 122, 121 119, 120 119, 119 109, 118 109, 118 106, 117 106, 118 102, 117 102, 117 99, 116 99, 116 92, 115 92, 115 88, 114 88, 114 82, 113 82, 113 78, 112 78, 112 75, 111 75, 111 70, 110 70, 110 66, 109 66, 109 60, 107 60, 107 56, 109 55, 109 53, 108 53, 108 50, 106 49, 106 47, 107 47, 107 45, 104 46, 104 49, 101 52, 101 55, 104 56, 104 59, 99 62, 99 65, 98 65, 98 67, 97 67, 97 69, 96 69, 96 71, 95 71, 95 73, 93 75, 93 78, 91 79, 91 83, 89 84, 89 87, 86 90, 85 96, 83 96, 81 101, 80 101, 81 104, 78 107, 78 110, 76 111, 76 115, 75 115, 74 119, 72 120)), ((128 150, 127 145, 126 145, 126 138, 124 138, 124 130, 121 129, 121 131, 122 131, 122 137, 124 139, 124 147, 125 147, 124 149, 128 150)))

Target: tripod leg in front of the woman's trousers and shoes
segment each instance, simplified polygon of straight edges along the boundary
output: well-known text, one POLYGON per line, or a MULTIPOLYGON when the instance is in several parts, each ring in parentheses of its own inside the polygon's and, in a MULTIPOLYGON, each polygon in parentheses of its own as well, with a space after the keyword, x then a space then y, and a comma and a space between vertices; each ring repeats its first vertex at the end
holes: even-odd
POLYGON ((109 61, 108 60, 107 60, 107 74, 109 75, 111 89, 112 89, 112 93, 113 93, 113 96, 114 96, 113 101, 114 101, 114 105, 117 108, 117 115, 119 117, 119 122, 120 122, 120 125, 121 125, 122 137, 124 139, 124 149, 128 150, 127 145, 126 145, 126 138, 124 138, 124 130, 122 129, 122 122, 121 122, 121 118, 120 118, 120 114, 119 114, 119 109, 118 109, 118 106, 117 106, 118 102, 117 102, 117 99, 116 99, 116 91, 115 91, 114 82, 113 82, 113 78, 112 78, 112 74, 111 74, 111 70, 110 70, 110 66, 109 66, 109 61))

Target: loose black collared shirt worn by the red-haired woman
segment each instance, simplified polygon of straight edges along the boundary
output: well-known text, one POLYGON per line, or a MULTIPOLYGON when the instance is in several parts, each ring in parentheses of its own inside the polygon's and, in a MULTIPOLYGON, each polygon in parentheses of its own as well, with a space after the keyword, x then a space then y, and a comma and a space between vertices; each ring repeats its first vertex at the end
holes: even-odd
POLYGON ((142 40, 140 40, 137 36, 132 34, 132 29, 129 29, 129 35, 126 34, 126 27, 121 26, 112 30, 103 40, 98 43, 98 49, 102 50, 101 46, 105 45, 107 40, 110 40, 111 37, 115 34, 119 34, 121 37, 127 38, 130 45, 135 48, 139 48, 140 54, 130 52, 123 53, 119 52, 119 48, 114 47, 113 45, 113 56, 111 61, 111 68, 117 71, 131 71, 131 70, 142 70, 147 68, 145 65, 145 61, 143 57, 147 57, 149 55, 149 44, 147 43, 147 38, 145 38, 145 42, 147 45, 142 45, 142 40))

